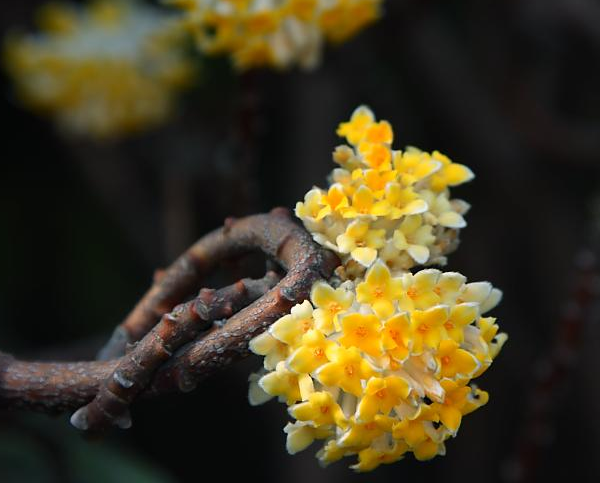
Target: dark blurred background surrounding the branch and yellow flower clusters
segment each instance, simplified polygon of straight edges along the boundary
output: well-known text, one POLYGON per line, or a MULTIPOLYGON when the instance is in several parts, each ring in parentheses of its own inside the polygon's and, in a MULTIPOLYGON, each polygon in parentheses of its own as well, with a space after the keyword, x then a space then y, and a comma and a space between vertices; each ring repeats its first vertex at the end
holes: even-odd
MULTIPOLYGON (((3 0, 2 34, 40 2, 3 0)), ((293 207, 325 185, 337 123, 365 103, 395 147, 438 149, 476 179, 447 267, 504 290, 509 341, 488 405, 447 455, 355 475, 285 451, 285 407, 247 404, 251 357, 185 396, 135 404, 101 441, 67 416, 0 413, 0 481, 598 481, 600 3, 387 0, 312 72, 237 75, 203 60, 163 127, 98 143, 61 135, 1 79, 0 347, 89 359, 164 267, 227 216, 293 207)), ((209 282, 207 282, 209 283, 209 282)))

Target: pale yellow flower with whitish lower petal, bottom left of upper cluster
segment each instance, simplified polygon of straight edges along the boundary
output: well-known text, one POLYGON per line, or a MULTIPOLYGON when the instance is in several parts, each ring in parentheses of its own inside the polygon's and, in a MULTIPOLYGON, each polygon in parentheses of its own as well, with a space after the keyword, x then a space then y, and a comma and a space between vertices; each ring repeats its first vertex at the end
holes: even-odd
POLYGON ((383 247, 384 237, 385 230, 372 230, 368 222, 357 219, 337 237, 336 243, 340 253, 349 253, 353 260, 369 267, 377 258, 377 250, 383 247))

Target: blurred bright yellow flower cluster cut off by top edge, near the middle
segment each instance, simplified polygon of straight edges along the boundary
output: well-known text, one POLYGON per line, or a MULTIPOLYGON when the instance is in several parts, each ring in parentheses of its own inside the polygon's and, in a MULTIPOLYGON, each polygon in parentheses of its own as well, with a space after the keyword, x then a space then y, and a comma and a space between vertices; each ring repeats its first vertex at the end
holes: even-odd
POLYGON ((204 52, 239 69, 314 67, 325 41, 344 42, 380 15, 382 0, 169 0, 204 52))

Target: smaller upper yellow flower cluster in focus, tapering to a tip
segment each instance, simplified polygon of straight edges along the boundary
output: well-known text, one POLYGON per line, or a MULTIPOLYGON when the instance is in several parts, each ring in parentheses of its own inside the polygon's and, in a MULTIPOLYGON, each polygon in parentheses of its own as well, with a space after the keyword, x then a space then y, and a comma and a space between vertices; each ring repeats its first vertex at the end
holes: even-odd
POLYGON ((333 153, 341 168, 327 191, 314 188, 296 205, 314 239, 342 256, 349 276, 377 257, 392 270, 443 265, 469 209, 448 188, 471 180, 471 170, 438 151, 393 150, 392 127, 364 106, 337 132, 350 144, 333 153))

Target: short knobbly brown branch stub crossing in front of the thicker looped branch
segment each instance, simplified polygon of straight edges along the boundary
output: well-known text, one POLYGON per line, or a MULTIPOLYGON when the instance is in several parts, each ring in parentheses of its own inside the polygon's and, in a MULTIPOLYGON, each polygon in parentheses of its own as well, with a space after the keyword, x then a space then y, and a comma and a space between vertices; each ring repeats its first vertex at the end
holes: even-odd
POLYGON ((173 352, 194 340, 213 322, 231 317, 262 297, 279 278, 275 272, 268 272, 260 280, 243 279, 220 290, 202 289, 198 297, 163 315, 160 322, 121 359, 94 400, 73 414, 71 423, 81 430, 130 427, 129 405, 173 352))

